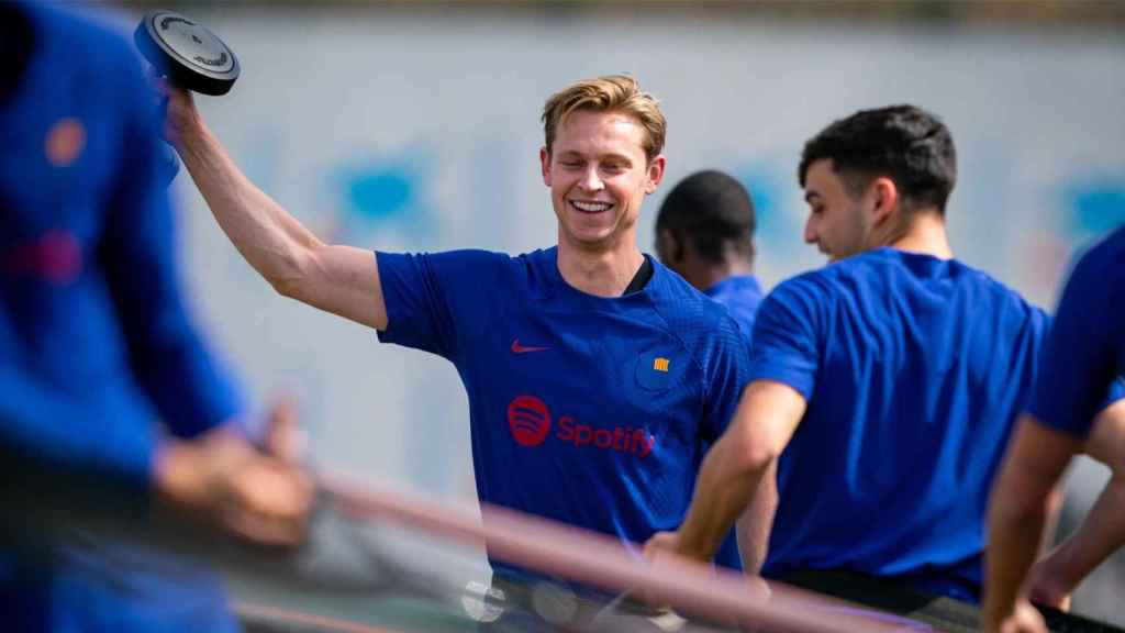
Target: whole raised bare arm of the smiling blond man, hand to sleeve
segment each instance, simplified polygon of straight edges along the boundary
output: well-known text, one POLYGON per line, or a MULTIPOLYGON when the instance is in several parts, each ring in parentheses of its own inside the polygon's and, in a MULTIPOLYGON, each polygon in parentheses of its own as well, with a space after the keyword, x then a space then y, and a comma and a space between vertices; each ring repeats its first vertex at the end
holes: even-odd
POLYGON ((372 251, 325 244, 254 186, 207 130, 190 97, 169 96, 169 136, 238 252, 281 295, 382 330, 387 311, 372 251))

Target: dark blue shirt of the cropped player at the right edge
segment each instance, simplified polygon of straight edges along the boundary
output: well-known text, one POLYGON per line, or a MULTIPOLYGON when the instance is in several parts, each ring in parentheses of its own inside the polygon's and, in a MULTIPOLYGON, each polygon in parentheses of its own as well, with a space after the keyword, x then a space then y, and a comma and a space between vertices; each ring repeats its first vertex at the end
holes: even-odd
POLYGON ((1050 427, 1084 437, 1107 386, 1119 385, 1123 374, 1125 228, 1074 266, 1059 301, 1030 413, 1050 427))

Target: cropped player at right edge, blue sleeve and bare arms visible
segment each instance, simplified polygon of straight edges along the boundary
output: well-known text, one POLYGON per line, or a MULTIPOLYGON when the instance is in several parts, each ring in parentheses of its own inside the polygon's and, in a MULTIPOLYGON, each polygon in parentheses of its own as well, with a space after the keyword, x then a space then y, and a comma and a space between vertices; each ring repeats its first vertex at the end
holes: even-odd
POLYGON ((1027 413, 1019 420, 989 509, 989 633, 1046 631, 1024 597, 1066 608, 1086 576, 1125 544, 1125 403, 1097 412, 1101 394, 1125 374, 1125 229, 1090 250, 1071 273, 1027 413), (1081 452, 1112 478, 1079 529, 1032 562, 1046 517, 1061 502, 1059 482, 1081 452))

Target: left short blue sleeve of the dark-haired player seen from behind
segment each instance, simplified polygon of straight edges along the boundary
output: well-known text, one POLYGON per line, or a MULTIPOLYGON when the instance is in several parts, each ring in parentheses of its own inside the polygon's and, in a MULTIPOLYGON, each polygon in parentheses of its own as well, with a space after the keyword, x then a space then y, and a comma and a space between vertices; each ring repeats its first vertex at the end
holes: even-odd
POLYGON ((806 400, 816 386, 820 362, 818 286, 802 276, 777 286, 762 302, 754 321, 748 380, 777 381, 806 400))

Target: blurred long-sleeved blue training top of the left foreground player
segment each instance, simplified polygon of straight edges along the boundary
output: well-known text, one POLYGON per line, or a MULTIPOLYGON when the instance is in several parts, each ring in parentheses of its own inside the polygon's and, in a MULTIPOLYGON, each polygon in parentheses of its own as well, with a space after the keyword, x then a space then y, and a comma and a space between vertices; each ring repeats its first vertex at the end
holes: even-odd
MULTIPOLYGON (((0 100, 0 470, 8 481, 68 471, 143 498, 158 420, 191 437, 241 404, 180 300, 159 122, 132 47, 52 8, 19 8, 35 47, 0 100)), ((194 563, 9 534, 0 615, 14 630, 236 627, 194 563)))

